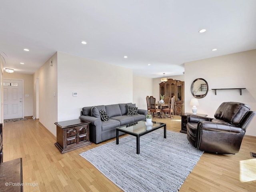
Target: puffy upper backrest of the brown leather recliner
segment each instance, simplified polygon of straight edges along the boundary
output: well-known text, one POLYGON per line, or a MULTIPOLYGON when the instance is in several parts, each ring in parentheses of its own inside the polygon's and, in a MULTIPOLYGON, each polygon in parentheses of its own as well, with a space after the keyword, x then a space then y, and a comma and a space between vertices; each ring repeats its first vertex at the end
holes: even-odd
POLYGON ((223 102, 216 110, 214 117, 239 126, 249 111, 250 107, 244 103, 223 102))

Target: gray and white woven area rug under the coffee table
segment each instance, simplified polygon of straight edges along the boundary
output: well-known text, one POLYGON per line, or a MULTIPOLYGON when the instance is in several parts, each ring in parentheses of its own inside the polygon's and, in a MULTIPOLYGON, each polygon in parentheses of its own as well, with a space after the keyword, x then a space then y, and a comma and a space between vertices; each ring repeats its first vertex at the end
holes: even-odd
POLYGON ((116 186, 126 192, 176 192, 203 152, 194 148, 186 134, 158 129, 140 137, 126 136, 80 154, 116 186))

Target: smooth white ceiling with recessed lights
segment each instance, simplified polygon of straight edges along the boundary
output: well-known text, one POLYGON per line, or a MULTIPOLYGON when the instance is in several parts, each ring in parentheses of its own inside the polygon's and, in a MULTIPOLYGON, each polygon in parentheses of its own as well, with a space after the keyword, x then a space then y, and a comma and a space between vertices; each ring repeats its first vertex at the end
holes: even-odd
POLYGON ((4 0, 0 54, 26 74, 60 51, 138 76, 182 75, 184 62, 256 49, 255 10, 256 0, 4 0))

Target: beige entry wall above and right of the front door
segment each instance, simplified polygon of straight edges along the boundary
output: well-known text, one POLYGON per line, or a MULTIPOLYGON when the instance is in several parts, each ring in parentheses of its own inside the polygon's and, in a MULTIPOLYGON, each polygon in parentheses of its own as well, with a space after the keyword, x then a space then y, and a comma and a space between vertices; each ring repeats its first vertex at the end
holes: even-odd
POLYGON ((4 72, 5 79, 23 80, 23 102, 24 102, 24 117, 33 116, 33 75, 22 73, 7 73, 4 72), (29 95, 25 97, 25 95, 29 95))

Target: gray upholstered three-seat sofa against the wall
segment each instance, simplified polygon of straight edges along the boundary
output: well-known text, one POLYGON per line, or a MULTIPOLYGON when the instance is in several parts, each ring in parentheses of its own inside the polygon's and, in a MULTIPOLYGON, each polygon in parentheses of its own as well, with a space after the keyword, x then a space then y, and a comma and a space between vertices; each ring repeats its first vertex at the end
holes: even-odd
MULTIPOLYGON (((137 115, 128 116, 128 108, 136 107, 132 103, 83 107, 80 119, 90 121, 90 141, 96 144, 116 137, 116 127, 146 119, 147 110, 138 109, 137 115), (130 106, 130 107, 129 107, 130 106), (100 111, 104 110, 109 119, 104 121, 100 111)), ((137 109, 136 109, 137 110, 137 109)), ((129 110, 130 112, 130 110, 129 110)))

